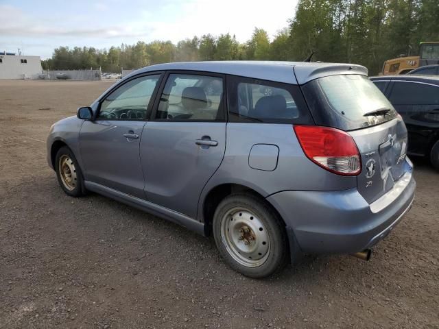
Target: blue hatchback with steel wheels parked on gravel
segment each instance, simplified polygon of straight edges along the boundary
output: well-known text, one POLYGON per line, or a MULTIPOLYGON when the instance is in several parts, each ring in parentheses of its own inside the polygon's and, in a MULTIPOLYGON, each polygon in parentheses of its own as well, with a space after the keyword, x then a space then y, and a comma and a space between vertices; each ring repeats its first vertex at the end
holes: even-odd
POLYGON ((262 278, 304 252, 370 257, 414 199, 406 145, 363 66, 188 62, 135 71, 52 125, 47 160, 67 195, 213 234, 262 278))

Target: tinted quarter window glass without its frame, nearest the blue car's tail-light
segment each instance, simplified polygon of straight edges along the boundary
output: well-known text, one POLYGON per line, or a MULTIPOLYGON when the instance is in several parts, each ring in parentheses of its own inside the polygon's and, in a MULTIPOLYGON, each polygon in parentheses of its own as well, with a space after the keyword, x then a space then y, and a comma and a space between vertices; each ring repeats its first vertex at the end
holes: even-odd
POLYGON ((263 83, 239 82, 237 84, 238 106, 232 112, 251 119, 296 119, 299 111, 291 93, 263 83))

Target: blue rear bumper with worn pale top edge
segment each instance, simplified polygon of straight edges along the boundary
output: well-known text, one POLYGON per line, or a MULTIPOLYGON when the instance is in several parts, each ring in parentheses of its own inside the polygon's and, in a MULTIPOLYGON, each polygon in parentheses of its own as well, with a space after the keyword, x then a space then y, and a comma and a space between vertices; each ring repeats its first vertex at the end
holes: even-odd
POLYGON ((366 202, 357 188, 283 191, 267 200, 287 224, 290 241, 294 239, 302 252, 348 254, 375 245, 410 210, 416 182, 408 172, 404 181, 404 186, 392 189, 392 193, 372 204, 366 202))

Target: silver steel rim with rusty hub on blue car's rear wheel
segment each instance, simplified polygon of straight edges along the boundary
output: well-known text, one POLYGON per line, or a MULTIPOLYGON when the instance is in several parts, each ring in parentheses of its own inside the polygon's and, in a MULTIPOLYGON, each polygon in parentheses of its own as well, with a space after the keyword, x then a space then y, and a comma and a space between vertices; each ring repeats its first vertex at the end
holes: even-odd
POLYGON ((270 256, 270 236, 250 210, 233 208, 221 220, 221 239, 232 258, 245 267, 259 267, 270 256))

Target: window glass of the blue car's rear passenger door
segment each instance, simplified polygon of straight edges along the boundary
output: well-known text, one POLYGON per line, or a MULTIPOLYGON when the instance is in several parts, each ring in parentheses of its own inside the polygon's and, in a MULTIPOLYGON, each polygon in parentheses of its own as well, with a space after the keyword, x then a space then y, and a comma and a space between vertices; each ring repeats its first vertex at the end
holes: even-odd
POLYGON ((170 74, 156 119, 222 120, 223 80, 207 75, 170 74))

